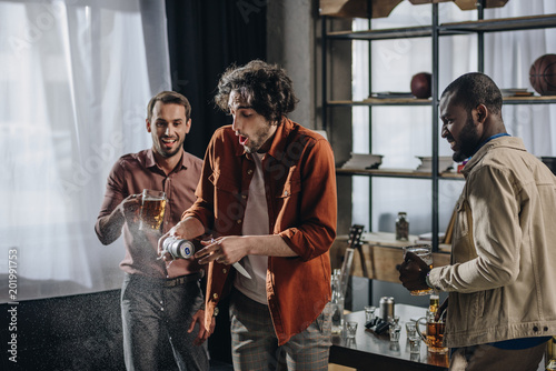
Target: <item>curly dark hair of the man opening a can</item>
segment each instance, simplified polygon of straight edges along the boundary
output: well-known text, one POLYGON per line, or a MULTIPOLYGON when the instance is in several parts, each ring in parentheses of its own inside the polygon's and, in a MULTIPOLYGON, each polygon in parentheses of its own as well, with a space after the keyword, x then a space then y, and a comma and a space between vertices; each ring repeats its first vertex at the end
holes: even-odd
POLYGON ((222 73, 215 102, 225 112, 229 112, 231 91, 239 92, 246 103, 270 122, 280 122, 299 101, 286 71, 261 60, 231 66, 222 73))

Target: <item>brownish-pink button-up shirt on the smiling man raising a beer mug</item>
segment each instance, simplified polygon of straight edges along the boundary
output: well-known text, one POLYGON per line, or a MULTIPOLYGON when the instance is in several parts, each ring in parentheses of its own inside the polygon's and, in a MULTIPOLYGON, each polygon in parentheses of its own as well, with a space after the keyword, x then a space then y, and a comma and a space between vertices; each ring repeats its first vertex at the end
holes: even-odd
POLYGON ((157 260, 158 239, 179 222, 183 210, 195 201, 202 160, 185 151, 182 153, 181 162, 168 176, 157 166, 150 149, 122 156, 108 176, 105 200, 95 225, 97 235, 103 243, 107 243, 107 237, 100 232, 100 219, 109 215, 128 195, 152 189, 165 191, 168 198, 161 232, 146 233, 138 230, 138 223, 123 223, 126 257, 120 262, 120 268, 127 273, 166 279, 200 270, 197 260, 192 259, 177 259, 166 263, 157 260))

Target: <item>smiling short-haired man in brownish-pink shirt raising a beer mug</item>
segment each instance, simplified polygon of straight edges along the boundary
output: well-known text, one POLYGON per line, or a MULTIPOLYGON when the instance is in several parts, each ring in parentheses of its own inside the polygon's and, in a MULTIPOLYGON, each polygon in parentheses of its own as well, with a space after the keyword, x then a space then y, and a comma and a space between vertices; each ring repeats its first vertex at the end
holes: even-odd
POLYGON ((163 361, 159 344, 171 347, 179 370, 209 368, 201 267, 193 259, 157 259, 158 239, 193 203, 201 172, 202 161, 183 150, 190 113, 189 101, 179 93, 163 91, 150 100, 146 128, 152 148, 125 154, 115 163, 95 225, 102 244, 123 233, 121 313, 128 370, 158 370, 163 361), (166 193, 160 230, 139 229, 143 189, 166 193))

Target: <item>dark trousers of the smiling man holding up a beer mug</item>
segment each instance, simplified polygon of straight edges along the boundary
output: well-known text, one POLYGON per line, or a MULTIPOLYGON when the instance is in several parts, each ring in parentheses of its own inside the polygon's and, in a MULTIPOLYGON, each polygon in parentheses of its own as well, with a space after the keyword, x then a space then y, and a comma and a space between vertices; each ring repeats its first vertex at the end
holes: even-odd
MULTIPOLYGON (((160 370, 159 344, 171 347, 176 370, 208 370, 206 342, 193 345, 198 325, 187 330, 202 305, 199 280, 167 288, 162 280, 126 274, 121 290, 123 355, 128 371, 160 370)), ((168 362, 166 362, 168 363, 168 362)))

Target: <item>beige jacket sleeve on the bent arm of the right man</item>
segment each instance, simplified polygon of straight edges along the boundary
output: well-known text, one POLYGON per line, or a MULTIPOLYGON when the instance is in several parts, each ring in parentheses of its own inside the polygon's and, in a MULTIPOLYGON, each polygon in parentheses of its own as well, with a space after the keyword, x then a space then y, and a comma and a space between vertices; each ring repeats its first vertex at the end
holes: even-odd
POLYGON ((429 281, 443 291, 475 292, 507 285, 519 274, 520 189, 508 169, 483 167, 468 179, 468 208, 458 211, 453 263, 435 268, 429 281), (467 227, 466 223, 468 223, 467 227), (461 233, 459 231, 458 233, 461 233))

